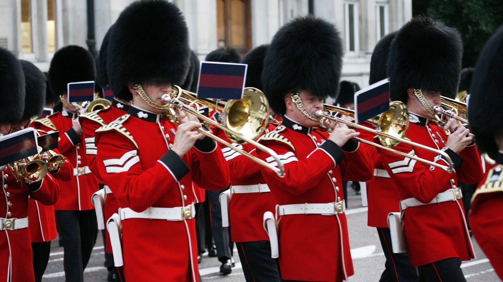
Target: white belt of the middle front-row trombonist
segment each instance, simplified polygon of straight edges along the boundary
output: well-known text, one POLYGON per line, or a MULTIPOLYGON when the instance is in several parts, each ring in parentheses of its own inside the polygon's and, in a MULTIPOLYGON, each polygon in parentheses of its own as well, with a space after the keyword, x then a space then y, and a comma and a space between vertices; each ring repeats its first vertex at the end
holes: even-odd
POLYGON ((280 216, 288 214, 334 215, 338 213, 344 213, 345 211, 346 211, 346 205, 344 204, 344 200, 326 204, 305 203, 305 204, 278 206, 278 214, 280 216))

